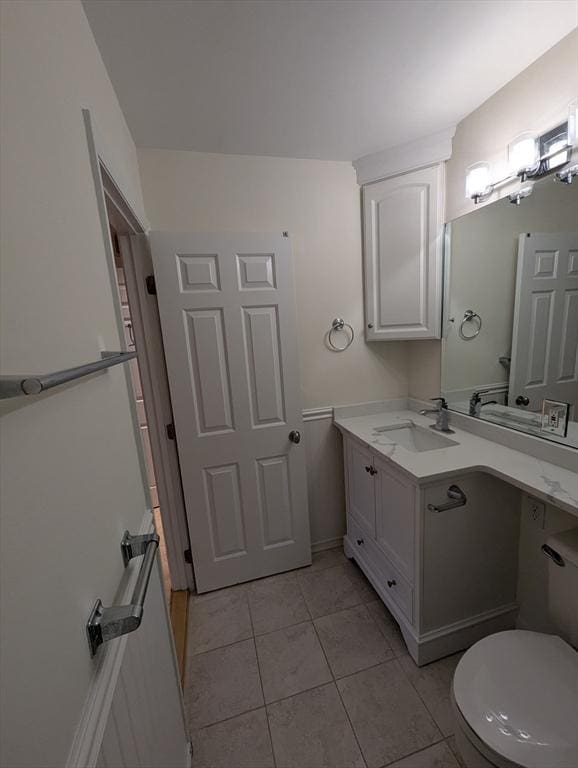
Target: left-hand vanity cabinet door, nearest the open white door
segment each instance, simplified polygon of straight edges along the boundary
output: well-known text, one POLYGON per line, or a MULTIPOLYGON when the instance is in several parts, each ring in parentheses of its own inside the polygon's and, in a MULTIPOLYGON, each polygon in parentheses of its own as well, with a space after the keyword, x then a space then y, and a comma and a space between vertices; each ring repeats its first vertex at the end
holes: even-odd
POLYGON ((373 454, 354 440, 346 441, 347 514, 375 538, 375 478, 373 454))

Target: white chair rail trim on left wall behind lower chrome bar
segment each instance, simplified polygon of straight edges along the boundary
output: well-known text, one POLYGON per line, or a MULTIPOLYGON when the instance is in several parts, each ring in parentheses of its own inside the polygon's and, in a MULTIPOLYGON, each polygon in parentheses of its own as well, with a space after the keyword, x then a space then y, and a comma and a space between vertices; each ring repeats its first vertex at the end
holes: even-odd
MULTIPOLYGON (((153 530, 152 512, 147 510, 143 515, 139 533, 150 533, 153 530)), ((130 602, 140 565, 139 560, 129 563, 124 587, 118 594, 119 604, 130 602)), ((97 763, 127 639, 128 635, 123 635, 117 640, 105 643, 98 651, 88 695, 66 760, 66 768, 92 768, 97 763)), ((88 653, 88 642, 86 652, 88 653)))

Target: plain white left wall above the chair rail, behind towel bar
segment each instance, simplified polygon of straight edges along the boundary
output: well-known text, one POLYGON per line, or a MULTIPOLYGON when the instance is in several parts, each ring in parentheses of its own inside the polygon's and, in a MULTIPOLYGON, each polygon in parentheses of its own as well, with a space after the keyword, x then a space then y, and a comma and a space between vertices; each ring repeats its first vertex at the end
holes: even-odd
MULTIPOLYGON (((81 109, 143 215, 135 148, 81 5, 1 3, 2 373, 119 347, 81 109)), ((1 413, 4 766, 63 766, 95 663, 84 624, 115 598, 145 496, 121 367, 1 413)))

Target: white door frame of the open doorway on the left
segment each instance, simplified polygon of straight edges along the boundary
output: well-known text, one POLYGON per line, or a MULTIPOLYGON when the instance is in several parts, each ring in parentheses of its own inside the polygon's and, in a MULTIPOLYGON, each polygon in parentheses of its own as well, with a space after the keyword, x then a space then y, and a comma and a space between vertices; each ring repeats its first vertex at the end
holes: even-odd
MULTIPOLYGON (((90 111, 83 109, 82 115, 88 142, 104 248, 111 276, 117 325, 119 326, 119 335, 124 345, 122 306, 116 279, 110 224, 114 226, 121 242, 126 288, 135 334, 135 346, 138 351, 138 366, 157 481, 160 513, 167 544, 171 587, 175 591, 194 589, 193 569, 191 565, 185 562, 184 558, 185 550, 189 549, 189 531, 185 515, 178 454, 175 441, 169 440, 166 433, 166 425, 172 421, 172 418, 167 421, 167 415, 172 415, 172 405, 168 389, 168 375, 163 353, 158 310, 155 312, 154 308, 151 307, 151 302, 143 301, 144 296, 141 290, 144 287, 138 285, 136 279, 138 269, 135 264, 136 260, 142 259, 143 254, 140 252, 140 249, 133 248, 130 242, 131 236, 141 235, 143 238, 146 237, 146 247, 148 248, 148 227, 139 219, 127 202, 113 174, 109 171, 102 155, 99 153, 90 111), (146 343, 146 339, 151 334, 157 336, 160 342, 160 347, 158 344, 153 345, 157 349, 156 354, 154 350, 151 351, 146 343)), ((128 366, 126 367, 126 375, 130 379, 128 366)), ((132 382, 130 380, 128 384, 132 391, 132 382)), ((140 445, 140 425, 134 398, 131 398, 131 406, 135 437, 140 445)), ((143 451, 139 451, 139 459, 147 506, 152 514, 152 502, 148 489, 143 451)))

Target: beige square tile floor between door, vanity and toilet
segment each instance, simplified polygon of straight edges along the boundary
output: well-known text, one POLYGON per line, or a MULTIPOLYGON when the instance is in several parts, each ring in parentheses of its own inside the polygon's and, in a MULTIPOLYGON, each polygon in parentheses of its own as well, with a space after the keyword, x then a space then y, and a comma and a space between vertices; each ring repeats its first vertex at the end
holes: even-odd
POLYGON ((193 768, 459 768, 460 654, 418 668, 339 549, 189 606, 193 768))

